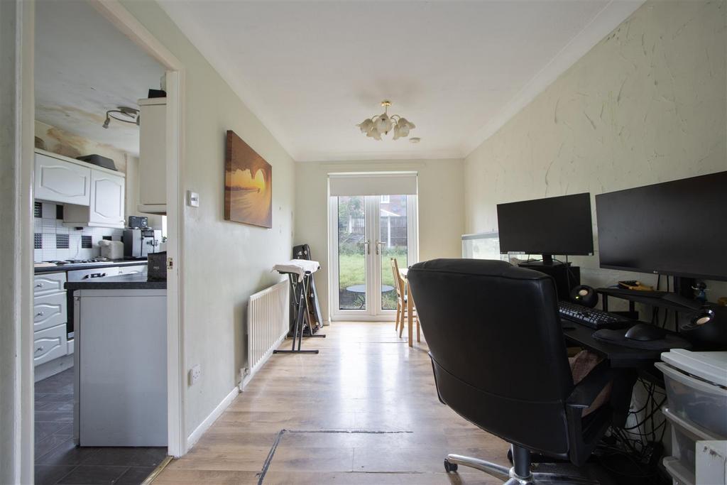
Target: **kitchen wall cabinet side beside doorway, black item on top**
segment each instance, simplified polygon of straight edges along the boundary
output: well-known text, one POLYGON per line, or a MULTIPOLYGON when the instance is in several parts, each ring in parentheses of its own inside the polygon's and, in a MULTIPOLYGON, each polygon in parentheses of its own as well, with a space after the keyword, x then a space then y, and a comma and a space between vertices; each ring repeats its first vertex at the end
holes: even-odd
POLYGON ((166 214, 166 97, 139 100, 140 212, 166 214))

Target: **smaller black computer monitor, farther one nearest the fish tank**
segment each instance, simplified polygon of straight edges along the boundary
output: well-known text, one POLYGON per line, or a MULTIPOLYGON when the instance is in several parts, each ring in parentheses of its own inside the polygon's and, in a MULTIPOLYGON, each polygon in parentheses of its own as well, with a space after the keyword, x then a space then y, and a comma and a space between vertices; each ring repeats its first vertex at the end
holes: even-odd
POLYGON ((497 204, 497 225, 502 254, 593 254, 590 193, 497 204))

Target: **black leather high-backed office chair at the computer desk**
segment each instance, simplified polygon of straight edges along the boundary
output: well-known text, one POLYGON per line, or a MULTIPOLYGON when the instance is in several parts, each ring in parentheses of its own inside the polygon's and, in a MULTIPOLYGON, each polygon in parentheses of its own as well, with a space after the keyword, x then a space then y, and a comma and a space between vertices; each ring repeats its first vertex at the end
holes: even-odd
POLYGON ((440 401, 512 445, 513 468, 449 454, 445 469, 482 470, 508 485, 598 483, 532 473, 531 452, 583 465, 611 422, 606 361, 573 384, 550 276, 505 261, 432 260, 409 268, 440 401))

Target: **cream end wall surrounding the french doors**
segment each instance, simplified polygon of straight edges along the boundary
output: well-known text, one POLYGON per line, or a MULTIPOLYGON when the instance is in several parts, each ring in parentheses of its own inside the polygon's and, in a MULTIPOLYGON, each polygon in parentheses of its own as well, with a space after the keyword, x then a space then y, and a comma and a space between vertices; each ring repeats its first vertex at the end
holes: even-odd
POLYGON ((462 160, 302 162, 297 164, 295 244, 307 243, 321 262, 316 288, 328 320, 328 174, 414 171, 419 174, 419 260, 462 257, 465 228, 462 160))

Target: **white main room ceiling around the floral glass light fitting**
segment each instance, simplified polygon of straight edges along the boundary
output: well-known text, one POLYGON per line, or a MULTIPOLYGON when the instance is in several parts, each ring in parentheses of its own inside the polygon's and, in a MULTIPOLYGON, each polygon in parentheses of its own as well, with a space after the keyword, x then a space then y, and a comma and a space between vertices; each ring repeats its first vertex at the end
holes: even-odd
POLYGON ((643 0, 160 3, 310 161, 465 156, 643 0), (358 131, 383 99, 421 143, 358 131))

